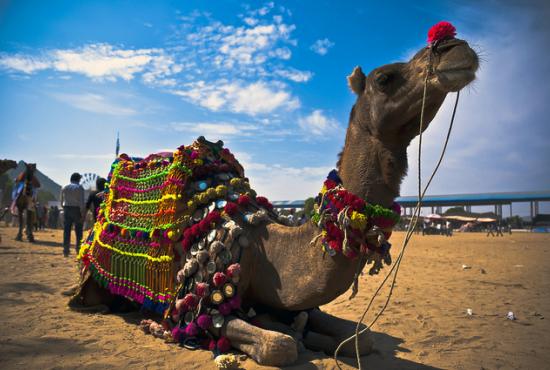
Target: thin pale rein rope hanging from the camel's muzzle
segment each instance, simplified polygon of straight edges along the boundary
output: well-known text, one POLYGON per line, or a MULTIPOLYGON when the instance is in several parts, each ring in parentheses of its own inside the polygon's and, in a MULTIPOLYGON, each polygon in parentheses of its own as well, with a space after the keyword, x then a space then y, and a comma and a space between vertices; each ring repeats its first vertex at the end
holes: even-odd
MULTIPOLYGON (((368 331, 372 328, 372 326, 376 323, 376 321, 378 321, 380 316, 382 316, 382 314, 384 313, 384 311, 386 310, 386 308, 389 305, 389 302, 390 302, 390 299, 391 299, 391 296, 392 296, 392 293, 393 293, 393 289, 395 287, 395 283, 396 283, 396 280, 397 280, 397 273, 399 272, 399 267, 401 266, 401 261, 403 260, 403 256, 405 254, 405 249, 406 249, 407 245, 409 244, 409 241, 411 240, 411 238, 413 236, 414 229, 416 228, 416 225, 418 223, 418 219, 420 217, 420 210, 421 210, 421 207, 422 207, 422 200, 423 200, 424 195, 426 194, 426 191, 428 190, 428 187, 430 186, 433 178, 435 177, 435 174, 439 170, 439 166, 441 165, 441 162, 443 161, 443 157, 445 156, 445 153, 447 151, 447 145, 449 143, 449 138, 451 136, 451 131, 452 131, 452 128, 453 128, 453 123, 454 123, 454 119, 455 119, 455 115, 456 115, 456 108, 458 106, 458 100, 459 100, 459 97, 460 97, 460 91, 457 91, 457 93, 456 93, 456 100, 455 100, 455 104, 454 104, 454 108, 453 108, 453 113, 452 113, 452 116, 451 116, 451 122, 449 124, 449 129, 447 131, 447 136, 445 138, 445 143, 444 143, 443 148, 441 150, 439 160, 438 160, 434 170, 432 171, 432 174, 430 175, 430 178, 429 178, 428 182, 426 183, 426 186, 422 190, 422 170, 421 170, 422 132, 423 132, 422 129, 423 129, 423 125, 424 125, 424 111, 425 111, 425 105, 426 105, 426 91, 427 91, 427 87, 428 87, 428 78, 433 73, 432 53, 433 53, 433 49, 432 49, 432 52, 428 54, 428 65, 426 67, 427 73, 426 73, 426 77, 424 79, 424 90, 423 90, 423 94, 422 94, 422 108, 421 108, 421 111, 420 111, 420 129, 419 129, 419 140, 418 140, 418 174, 417 174, 418 175, 418 202, 416 203, 416 206, 414 208, 414 212, 413 212, 413 216, 411 218, 411 222, 409 223, 409 226, 407 227, 407 232, 405 234, 405 239, 403 241, 403 246, 401 248, 401 252, 399 253, 395 263, 390 268, 390 271, 388 272, 388 274, 386 275, 384 280, 382 280, 382 282, 380 283, 380 285, 378 286, 378 288, 374 292, 373 296, 371 297, 366 309, 363 311, 363 314, 361 315, 360 320, 357 322, 357 325, 355 327, 355 333, 353 335, 351 335, 349 338, 344 339, 342 342, 340 342, 340 344, 336 348, 336 351, 334 351, 334 361, 336 362, 336 366, 340 370, 342 370, 342 367, 340 366, 340 363, 338 362, 338 352, 340 352, 340 350, 342 349, 342 347, 345 344, 349 343, 350 341, 352 341, 354 339, 355 339, 355 354, 356 354, 356 359, 357 359, 357 365, 358 365, 358 369, 361 370, 361 356, 359 354, 359 336, 364 334, 366 331, 368 331), (394 273, 394 271, 395 271, 395 273, 394 273), (386 284, 386 282, 388 281, 390 276, 392 276, 392 273, 393 273, 393 278, 391 280, 390 290, 388 292, 388 296, 386 298, 386 301, 384 302, 384 306, 375 315, 375 317, 371 321, 371 323, 368 326, 366 326, 365 328, 361 329, 361 325, 363 324, 363 320, 365 319, 365 316, 369 312, 375 298, 380 294, 380 291, 382 290, 382 288, 384 287, 384 285, 386 284)), ((354 297, 355 294, 357 293, 357 285, 358 285, 358 280, 357 279, 359 277, 358 274, 359 274, 359 270, 358 270, 358 273, 356 274, 356 278, 354 280, 354 284, 353 284, 353 288, 352 288, 352 297, 354 297)))

